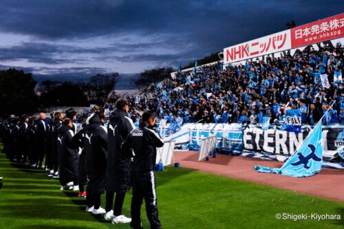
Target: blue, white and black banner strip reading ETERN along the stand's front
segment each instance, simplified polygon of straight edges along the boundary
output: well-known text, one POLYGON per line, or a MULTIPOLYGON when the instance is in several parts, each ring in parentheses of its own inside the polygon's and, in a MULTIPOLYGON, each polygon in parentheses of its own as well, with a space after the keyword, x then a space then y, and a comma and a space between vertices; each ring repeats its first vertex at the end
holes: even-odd
MULTIPOLYGON (((257 125, 241 124, 184 124, 180 131, 165 135, 165 141, 175 142, 175 149, 200 150, 203 138, 217 137, 216 148, 224 153, 244 151, 266 152, 273 155, 292 155, 307 137, 310 126, 302 126, 301 132, 288 132, 273 126, 263 130, 257 125)), ((322 133, 323 155, 326 160, 344 157, 344 125, 324 125, 322 133)))

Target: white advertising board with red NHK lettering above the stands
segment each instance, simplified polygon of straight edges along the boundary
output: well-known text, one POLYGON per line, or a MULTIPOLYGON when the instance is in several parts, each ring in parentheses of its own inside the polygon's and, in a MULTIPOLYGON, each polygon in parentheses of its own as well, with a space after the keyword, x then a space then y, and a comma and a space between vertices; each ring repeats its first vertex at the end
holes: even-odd
POLYGON ((224 49, 224 63, 237 62, 291 48, 290 30, 234 45, 224 49))

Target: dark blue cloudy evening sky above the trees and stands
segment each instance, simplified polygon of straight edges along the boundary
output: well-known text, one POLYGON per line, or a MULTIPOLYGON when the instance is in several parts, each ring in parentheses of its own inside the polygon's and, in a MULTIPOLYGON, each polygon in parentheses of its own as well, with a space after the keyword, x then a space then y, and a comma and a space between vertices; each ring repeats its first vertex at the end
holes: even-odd
POLYGON ((0 68, 65 77, 186 65, 288 21, 339 14, 343 0, 0 0, 0 9, 0 68))

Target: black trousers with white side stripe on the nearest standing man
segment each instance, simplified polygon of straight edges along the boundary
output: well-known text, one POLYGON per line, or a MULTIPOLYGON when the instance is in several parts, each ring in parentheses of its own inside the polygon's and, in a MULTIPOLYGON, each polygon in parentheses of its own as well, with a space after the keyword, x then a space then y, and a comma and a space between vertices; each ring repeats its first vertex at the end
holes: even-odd
POLYGON ((140 228, 140 210, 142 201, 146 204, 146 213, 151 229, 160 229, 161 223, 158 217, 158 205, 155 195, 155 175, 153 171, 144 173, 132 173, 133 198, 131 199, 131 223, 132 228, 140 228))

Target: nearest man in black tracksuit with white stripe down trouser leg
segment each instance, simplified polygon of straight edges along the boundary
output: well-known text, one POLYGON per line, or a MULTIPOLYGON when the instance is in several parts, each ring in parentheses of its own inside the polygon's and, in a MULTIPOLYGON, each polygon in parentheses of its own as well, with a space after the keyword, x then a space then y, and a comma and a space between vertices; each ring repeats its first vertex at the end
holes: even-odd
POLYGON ((131 178, 133 182, 133 198, 131 199, 131 223, 132 228, 142 228, 140 210, 142 200, 146 203, 146 212, 152 229, 160 229, 158 218, 158 206, 155 195, 154 166, 156 159, 156 147, 164 146, 164 142, 153 131, 156 122, 155 113, 144 112, 142 122, 137 129, 129 133, 122 149, 131 149, 133 162, 131 164, 131 178))

